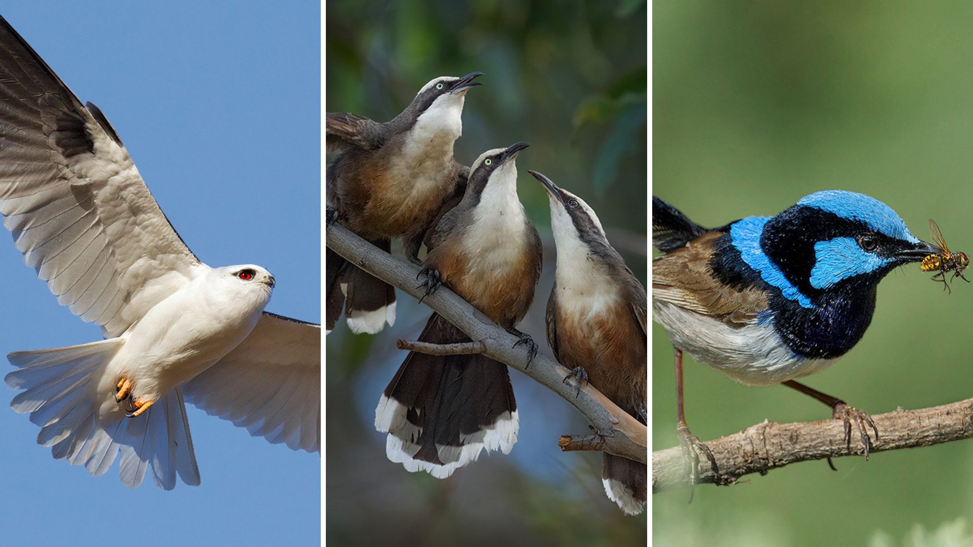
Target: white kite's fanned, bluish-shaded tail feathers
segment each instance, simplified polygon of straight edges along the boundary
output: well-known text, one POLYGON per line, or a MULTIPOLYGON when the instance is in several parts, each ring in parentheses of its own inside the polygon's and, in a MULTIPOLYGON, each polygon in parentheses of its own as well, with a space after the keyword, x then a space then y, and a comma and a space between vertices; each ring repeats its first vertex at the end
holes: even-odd
POLYGON ((23 389, 11 401, 18 413, 30 413, 41 427, 37 442, 51 447, 55 458, 84 464, 102 475, 116 456, 122 482, 142 484, 152 465, 152 477, 165 490, 175 487, 176 474, 188 485, 199 484, 193 439, 178 387, 165 394, 139 417, 99 419, 101 401, 95 396, 105 367, 121 347, 120 339, 40 351, 18 351, 8 359, 18 370, 5 378, 23 389))

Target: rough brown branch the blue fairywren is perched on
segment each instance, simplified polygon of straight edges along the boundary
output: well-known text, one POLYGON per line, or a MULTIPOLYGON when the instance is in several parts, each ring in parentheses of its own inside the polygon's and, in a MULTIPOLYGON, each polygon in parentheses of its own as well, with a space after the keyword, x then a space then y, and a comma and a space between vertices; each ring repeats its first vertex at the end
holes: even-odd
MULTIPOLYGON (((873 416, 879 440, 872 454, 926 447, 973 437, 973 399, 915 411, 899 408, 873 416)), ((789 463, 839 456, 863 456, 864 449, 852 425, 851 450, 845 443, 840 419, 804 423, 764 421, 734 435, 706 443, 716 458, 720 484, 732 484, 750 473, 767 474, 789 463)), ((701 457, 701 482, 713 483, 709 462, 701 457)), ((688 486, 680 447, 652 453, 652 492, 688 486)))

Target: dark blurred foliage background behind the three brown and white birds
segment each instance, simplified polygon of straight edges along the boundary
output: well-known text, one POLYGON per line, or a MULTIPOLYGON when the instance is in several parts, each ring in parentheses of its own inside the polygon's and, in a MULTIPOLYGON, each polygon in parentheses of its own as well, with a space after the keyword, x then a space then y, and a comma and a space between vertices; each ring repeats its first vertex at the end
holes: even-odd
MULTIPOLYGON (((527 141, 518 192, 544 240, 544 274, 520 328, 541 351, 555 250, 539 170, 597 211, 609 240, 645 282, 646 5, 609 2, 329 1, 326 107, 385 122, 426 82, 483 71, 466 95, 456 160, 527 141)), ((393 252, 397 255, 397 249, 393 252)), ((560 453, 587 421, 512 372, 521 429, 509 456, 483 455, 450 479, 385 457, 378 396, 430 311, 399 293, 394 327, 326 344, 327 540, 336 545, 644 545, 646 516, 626 517, 601 485, 600 455, 560 453)))

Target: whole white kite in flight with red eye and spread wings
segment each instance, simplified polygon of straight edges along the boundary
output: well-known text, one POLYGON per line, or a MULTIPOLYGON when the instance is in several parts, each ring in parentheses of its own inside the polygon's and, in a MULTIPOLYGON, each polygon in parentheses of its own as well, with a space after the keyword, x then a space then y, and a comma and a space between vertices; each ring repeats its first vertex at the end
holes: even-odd
POLYGON ((122 482, 199 484, 184 400, 320 452, 320 326, 264 311, 273 276, 210 268, 172 229, 115 129, 0 18, 0 212, 57 302, 105 340, 8 355, 11 406, 55 458, 122 482))

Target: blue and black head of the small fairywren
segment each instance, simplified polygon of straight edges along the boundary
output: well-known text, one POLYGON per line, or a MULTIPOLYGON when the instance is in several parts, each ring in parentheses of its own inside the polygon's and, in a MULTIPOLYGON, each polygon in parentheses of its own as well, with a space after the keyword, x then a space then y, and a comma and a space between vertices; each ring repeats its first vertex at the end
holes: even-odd
POLYGON ((919 242, 891 207, 844 190, 816 192, 775 217, 739 220, 730 238, 747 266, 806 309, 845 279, 876 274, 877 282, 899 263, 892 251, 919 242), (857 239, 863 233, 883 245, 866 250, 857 239))

